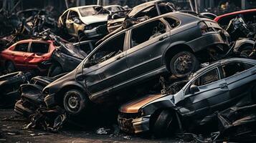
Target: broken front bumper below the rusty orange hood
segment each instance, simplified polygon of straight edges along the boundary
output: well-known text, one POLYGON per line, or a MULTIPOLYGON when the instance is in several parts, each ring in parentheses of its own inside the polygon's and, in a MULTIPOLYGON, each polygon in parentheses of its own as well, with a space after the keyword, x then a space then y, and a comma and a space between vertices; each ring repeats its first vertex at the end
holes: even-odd
POLYGON ((149 120, 151 115, 136 119, 118 117, 118 125, 124 132, 138 134, 149 131, 149 120))

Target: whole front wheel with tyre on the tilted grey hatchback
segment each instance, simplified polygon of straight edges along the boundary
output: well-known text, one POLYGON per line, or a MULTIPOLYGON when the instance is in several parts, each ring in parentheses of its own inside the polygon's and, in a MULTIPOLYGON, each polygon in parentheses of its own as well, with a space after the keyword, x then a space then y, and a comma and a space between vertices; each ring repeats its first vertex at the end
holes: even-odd
POLYGON ((65 111, 71 115, 81 114, 89 106, 89 99, 80 90, 71 89, 64 95, 63 104, 65 111))

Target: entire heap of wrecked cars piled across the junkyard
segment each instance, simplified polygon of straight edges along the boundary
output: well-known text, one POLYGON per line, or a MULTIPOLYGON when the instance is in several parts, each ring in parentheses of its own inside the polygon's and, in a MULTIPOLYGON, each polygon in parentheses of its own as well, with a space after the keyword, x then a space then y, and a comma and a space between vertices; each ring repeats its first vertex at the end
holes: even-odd
POLYGON ((50 132, 100 110, 130 134, 255 139, 256 9, 110 8, 0 11, 0 107, 50 132))

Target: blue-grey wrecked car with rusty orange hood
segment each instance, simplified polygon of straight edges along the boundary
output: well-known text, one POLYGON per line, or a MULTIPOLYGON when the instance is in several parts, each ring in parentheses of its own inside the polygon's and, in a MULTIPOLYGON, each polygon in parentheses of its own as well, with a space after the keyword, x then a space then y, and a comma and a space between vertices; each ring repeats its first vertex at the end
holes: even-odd
POLYGON ((166 85, 163 94, 150 94, 123 104, 119 127, 132 134, 151 131, 157 136, 196 128, 214 112, 255 103, 255 79, 253 59, 217 61, 184 81, 166 85))

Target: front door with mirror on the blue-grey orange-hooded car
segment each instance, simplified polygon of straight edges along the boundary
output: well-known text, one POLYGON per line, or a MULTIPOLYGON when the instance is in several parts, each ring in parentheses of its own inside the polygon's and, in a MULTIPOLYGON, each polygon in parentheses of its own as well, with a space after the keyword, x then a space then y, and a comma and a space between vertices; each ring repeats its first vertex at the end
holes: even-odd
POLYGON ((185 99, 177 105, 182 114, 202 119, 217 111, 228 99, 227 83, 225 79, 220 79, 219 69, 216 67, 204 72, 194 82, 191 82, 186 89, 185 99), (198 87, 198 91, 191 92, 191 86, 198 87))

